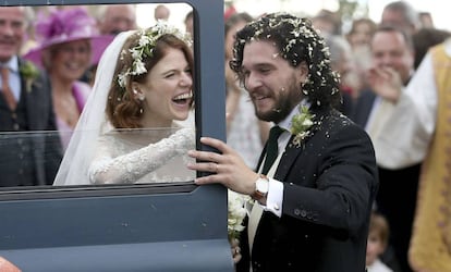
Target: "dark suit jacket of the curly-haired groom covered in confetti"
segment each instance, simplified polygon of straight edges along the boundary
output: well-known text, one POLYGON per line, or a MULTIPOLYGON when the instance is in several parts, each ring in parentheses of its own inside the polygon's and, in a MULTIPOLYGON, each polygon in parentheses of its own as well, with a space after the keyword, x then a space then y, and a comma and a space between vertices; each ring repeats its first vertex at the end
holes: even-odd
MULTIPOLYGON (((313 113, 320 125, 302 147, 288 145, 276 171, 275 178, 284 183, 282 217, 264 212, 252 252, 254 272, 365 271, 378 186, 373 145, 338 111, 313 113)), ((246 230, 242 238, 245 247, 246 230)))

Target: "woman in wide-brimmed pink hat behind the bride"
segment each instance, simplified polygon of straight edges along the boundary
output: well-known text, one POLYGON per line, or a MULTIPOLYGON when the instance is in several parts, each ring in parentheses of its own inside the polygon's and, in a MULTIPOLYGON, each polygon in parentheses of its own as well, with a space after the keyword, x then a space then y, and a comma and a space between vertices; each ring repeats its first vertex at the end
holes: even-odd
POLYGON ((95 20, 83 8, 53 10, 38 20, 36 35, 39 46, 24 58, 49 74, 57 126, 65 149, 90 92, 90 86, 80 78, 98 61, 112 37, 99 36, 95 20))

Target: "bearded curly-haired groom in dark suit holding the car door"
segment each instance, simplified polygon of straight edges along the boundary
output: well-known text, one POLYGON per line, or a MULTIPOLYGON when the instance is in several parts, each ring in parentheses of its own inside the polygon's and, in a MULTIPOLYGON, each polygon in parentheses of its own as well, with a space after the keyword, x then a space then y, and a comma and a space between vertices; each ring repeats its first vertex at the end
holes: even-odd
POLYGON ((219 153, 188 152, 197 159, 190 169, 212 173, 196 184, 255 200, 241 236, 242 262, 248 254, 251 262, 239 270, 365 271, 375 154, 367 134, 334 109, 339 81, 322 38, 308 20, 269 14, 237 32, 231 67, 257 116, 281 128, 278 138, 271 128, 257 172, 218 139, 200 141, 219 153))

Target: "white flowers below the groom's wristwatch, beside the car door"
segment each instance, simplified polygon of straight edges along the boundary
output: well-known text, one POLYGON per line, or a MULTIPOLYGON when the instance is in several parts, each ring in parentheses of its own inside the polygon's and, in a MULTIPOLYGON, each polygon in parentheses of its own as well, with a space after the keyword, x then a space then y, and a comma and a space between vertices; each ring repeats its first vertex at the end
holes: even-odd
POLYGON ((228 225, 229 240, 239 239, 244 230, 243 220, 246 217, 245 202, 251 197, 228 190, 228 225))

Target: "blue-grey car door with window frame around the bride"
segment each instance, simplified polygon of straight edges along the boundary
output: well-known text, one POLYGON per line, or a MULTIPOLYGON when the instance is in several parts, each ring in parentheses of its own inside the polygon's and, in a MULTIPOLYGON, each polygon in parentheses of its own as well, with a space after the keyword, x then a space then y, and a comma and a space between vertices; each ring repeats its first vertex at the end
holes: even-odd
MULTIPOLYGON (((10 0, 3 5, 157 2, 10 0)), ((207 149, 198 143, 200 136, 226 138, 223 1, 182 3, 194 11, 195 127, 197 147, 207 149)), ((8 143, 2 147, 8 148, 8 143)), ((227 191, 219 185, 198 187, 192 181, 2 187, 0 256, 23 271, 233 271, 227 191)))

